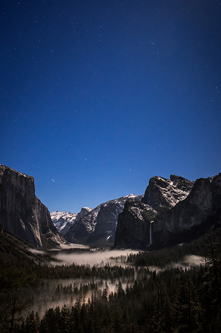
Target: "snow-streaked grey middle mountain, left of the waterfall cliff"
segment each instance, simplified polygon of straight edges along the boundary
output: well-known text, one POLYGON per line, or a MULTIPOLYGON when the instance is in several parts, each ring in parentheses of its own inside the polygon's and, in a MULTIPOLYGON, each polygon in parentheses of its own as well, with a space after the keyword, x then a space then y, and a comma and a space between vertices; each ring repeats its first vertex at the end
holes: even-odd
POLYGON ((65 239, 71 243, 113 245, 118 214, 124 209, 128 198, 141 199, 142 196, 130 194, 100 204, 73 224, 65 239))

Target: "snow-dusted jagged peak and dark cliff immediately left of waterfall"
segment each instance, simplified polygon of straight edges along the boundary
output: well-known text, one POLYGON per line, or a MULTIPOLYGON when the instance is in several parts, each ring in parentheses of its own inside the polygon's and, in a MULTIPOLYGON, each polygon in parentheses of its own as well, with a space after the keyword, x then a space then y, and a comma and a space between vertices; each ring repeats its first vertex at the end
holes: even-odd
POLYGON ((158 214, 184 200, 193 184, 194 182, 175 175, 171 175, 170 179, 152 177, 145 190, 142 205, 135 201, 126 202, 124 211, 118 217, 114 247, 148 248, 152 243, 151 222, 158 214))

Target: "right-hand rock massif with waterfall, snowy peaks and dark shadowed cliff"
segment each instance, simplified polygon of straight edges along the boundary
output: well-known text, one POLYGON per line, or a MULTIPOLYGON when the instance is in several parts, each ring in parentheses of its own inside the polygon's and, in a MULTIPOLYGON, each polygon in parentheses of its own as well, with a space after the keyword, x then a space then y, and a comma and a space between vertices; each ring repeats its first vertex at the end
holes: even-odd
POLYGON ((153 177, 142 205, 128 200, 119 214, 114 247, 174 245, 199 237, 220 219, 221 174, 194 183, 174 175, 153 177))

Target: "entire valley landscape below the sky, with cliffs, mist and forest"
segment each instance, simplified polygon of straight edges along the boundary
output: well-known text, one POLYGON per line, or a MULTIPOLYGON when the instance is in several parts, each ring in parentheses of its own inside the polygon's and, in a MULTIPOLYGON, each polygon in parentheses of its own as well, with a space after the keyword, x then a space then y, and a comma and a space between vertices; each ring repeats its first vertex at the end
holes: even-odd
POLYGON ((220 332, 221 174, 78 214, 5 165, 0 184, 1 333, 220 332))

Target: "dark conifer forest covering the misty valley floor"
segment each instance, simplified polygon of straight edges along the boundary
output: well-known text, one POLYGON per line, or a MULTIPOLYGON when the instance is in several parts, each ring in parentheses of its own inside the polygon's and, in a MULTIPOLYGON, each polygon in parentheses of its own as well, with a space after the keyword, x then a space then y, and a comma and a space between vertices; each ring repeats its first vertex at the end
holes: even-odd
POLYGON ((220 240, 216 229, 188 244, 93 266, 37 262, 1 240, 0 331, 218 333, 220 240), (188 256, 201 260, 185 266, 188 256))

